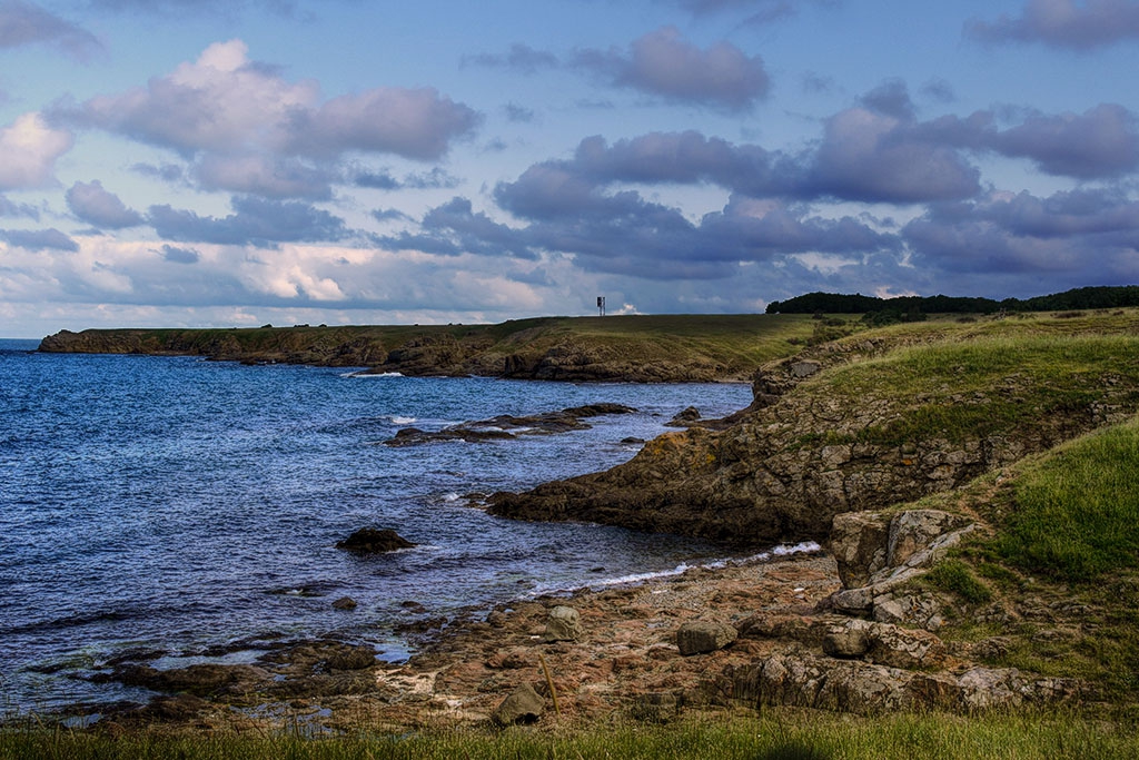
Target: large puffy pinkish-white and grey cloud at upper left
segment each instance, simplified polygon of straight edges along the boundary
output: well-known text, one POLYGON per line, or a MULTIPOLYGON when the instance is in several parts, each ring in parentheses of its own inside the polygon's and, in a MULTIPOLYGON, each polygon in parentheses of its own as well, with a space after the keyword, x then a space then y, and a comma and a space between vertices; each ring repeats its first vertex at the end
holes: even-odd
MULTIPOLYGON (((240 40, 216 42, 146 87, 91 98, 62 115, 189 156, 204 154, 199 172, 213 187, 246 191, 255 185, 280 196, 300 181, 298 194, 309 197, 313 178, 297 180, 296 165, 282 177, 282 162, 337 161, 349 152, 435 160, 478 123, 473 109, 432 88, 375 88, 322 101, 316 81, 289 82, 247 54, 240 40), (219 162, 235 156, 246 167, 261 163, 253 179, 220 169, 219 162)), ((326 185, 326 178, 316 182, 318 189, 326 185)))

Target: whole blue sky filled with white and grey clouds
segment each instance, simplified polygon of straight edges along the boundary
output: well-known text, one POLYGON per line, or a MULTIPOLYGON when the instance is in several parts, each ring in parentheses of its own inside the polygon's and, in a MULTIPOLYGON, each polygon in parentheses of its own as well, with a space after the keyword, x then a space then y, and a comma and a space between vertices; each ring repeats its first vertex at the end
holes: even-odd
POLYGON ((0 0, 0 335, 1139 284, 1139 0, 0 0))

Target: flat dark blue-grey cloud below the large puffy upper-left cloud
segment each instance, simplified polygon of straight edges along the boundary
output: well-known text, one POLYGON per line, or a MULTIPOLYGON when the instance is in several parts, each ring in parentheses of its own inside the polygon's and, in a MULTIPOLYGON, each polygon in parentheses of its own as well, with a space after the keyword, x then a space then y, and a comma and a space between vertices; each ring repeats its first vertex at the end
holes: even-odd
POLYGON ((155 205, 147 221, 159 237, 180 243, 272 246, 339 240, 349 235, 343 220, 305 203, 238 196, 231 205, 235 213, 223 219, 155 205))

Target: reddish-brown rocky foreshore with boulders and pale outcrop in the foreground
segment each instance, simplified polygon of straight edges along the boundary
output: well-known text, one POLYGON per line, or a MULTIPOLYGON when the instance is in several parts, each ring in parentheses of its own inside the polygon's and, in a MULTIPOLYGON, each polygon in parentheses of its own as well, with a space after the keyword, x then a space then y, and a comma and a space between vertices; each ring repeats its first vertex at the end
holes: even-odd
POLYGON ((662 722, 768 704, 972 713, 1087 698, 1076 680, 984 664, 999 641, 939 638, 952 602, 906 582, 976 528, 937 510, 845 515, 826 553, 771 553, 409 626, 418 649, 404 663, 335 640, 281 645, 247 664, 122 662, 107 678, 161 695, 105 705, 97 725, 407 730, 662 722))

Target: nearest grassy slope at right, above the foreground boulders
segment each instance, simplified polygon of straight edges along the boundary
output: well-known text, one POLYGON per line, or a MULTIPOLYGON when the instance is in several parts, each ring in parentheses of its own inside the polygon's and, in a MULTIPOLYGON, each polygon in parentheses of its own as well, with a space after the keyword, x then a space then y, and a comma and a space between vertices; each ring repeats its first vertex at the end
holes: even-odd
POLYGON ((995 643, 993 665, 1085 679, 1139 719, 1139 419, 920 506, 988 526, 919 582, 953 602, 943 638, 995 643))

